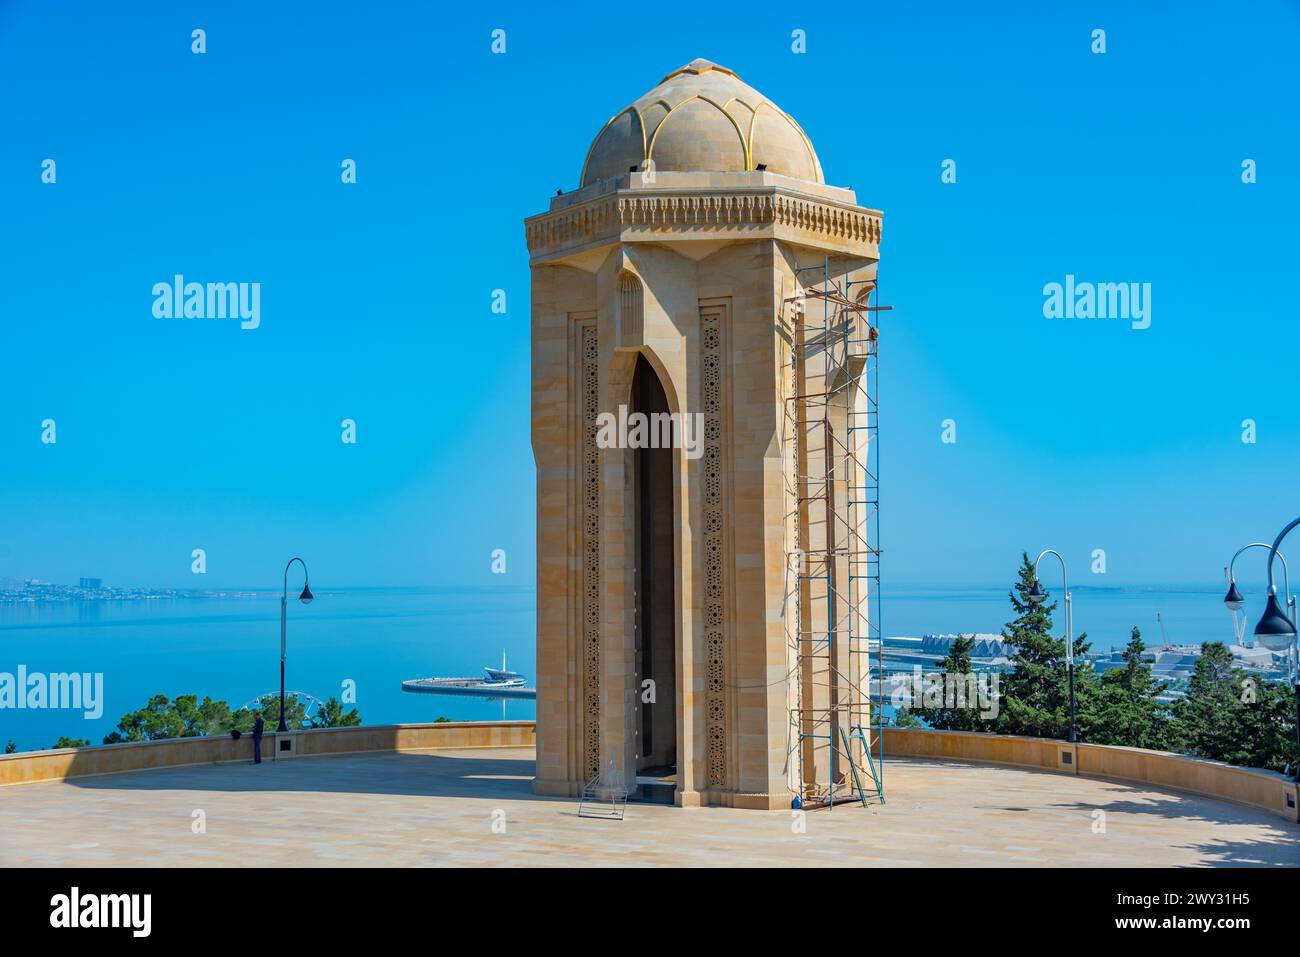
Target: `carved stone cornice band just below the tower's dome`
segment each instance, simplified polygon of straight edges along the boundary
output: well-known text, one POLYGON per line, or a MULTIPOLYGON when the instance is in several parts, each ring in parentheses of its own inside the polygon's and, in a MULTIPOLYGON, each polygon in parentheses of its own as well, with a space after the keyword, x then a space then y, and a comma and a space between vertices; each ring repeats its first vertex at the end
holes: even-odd
POLYGON ((618 190, 524 221, 533 264, 616 242, 777 239, 878 259, 881 213, 783 187, 618 190))

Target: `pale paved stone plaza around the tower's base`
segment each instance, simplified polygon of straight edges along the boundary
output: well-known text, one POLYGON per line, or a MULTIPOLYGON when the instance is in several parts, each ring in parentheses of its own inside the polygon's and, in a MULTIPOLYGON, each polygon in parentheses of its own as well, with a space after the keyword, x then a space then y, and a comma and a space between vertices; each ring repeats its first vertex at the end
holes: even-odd
POLYGON ((1300 865, 1300 826, 1264 811, 1045 771, 894 759, 885 806, 810 811, 794 833, 789 811, 584 819, 577 801, 534 796, 533 770, 532 749, 511 748, 14 785, 0 788, 0 865, 1300 865))

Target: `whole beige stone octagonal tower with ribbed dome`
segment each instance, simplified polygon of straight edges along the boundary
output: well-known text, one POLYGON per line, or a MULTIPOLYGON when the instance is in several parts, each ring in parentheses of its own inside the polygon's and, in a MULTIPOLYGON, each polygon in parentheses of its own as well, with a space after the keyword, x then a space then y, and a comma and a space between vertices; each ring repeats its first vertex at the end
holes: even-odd
POLYGON ((788 807, 837 800, 870 753, 850 585, 876 553, 841 459, 870 439, 880 224, 707 60, 610 120, 580 187, 526 220, 537 792, 788 807))

